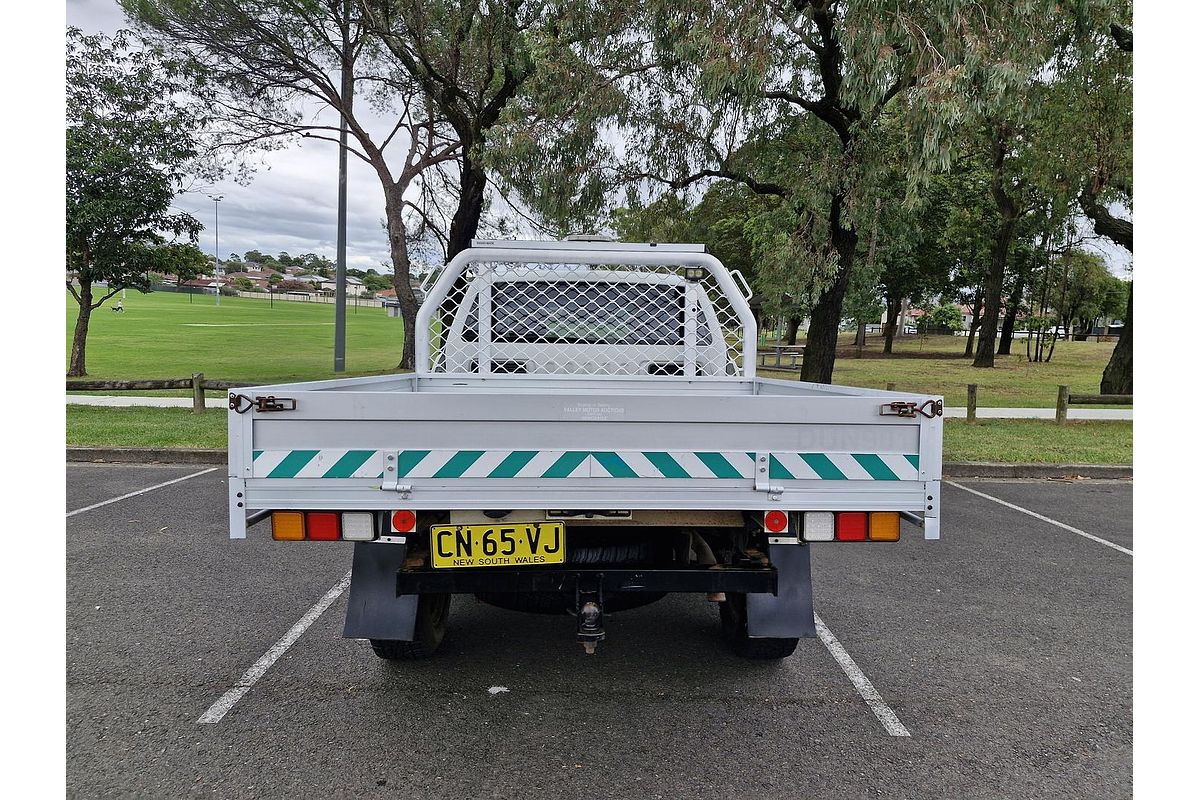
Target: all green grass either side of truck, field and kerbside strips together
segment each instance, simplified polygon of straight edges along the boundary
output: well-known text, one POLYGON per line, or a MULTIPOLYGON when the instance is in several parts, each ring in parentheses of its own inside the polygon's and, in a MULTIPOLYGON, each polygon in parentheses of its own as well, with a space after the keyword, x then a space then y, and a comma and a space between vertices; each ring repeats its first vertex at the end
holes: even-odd
MULTIPOLYGON (((104 306, 92 314, 88 367, 94 378, 206 378, 248 384, 332 378, 334 309, 330 305, 131 291, 125 313, 104 306)), ((67 353, 77 306, 67 295, 67 353)), ((388 373, 400 360, 401 320, 380 308, 347 309, 347 377, 388 373)), ((1055 404, 1058 384, 1079 392, 1099 387, 1112 344, 1060 342, 1051 363, 1030 363, 1019 355, 997 359, 994 369, 974 369, 961 356, 961 337, 898 339, 883 357, 882 339, 868 339, 856 359, 851 338, 842 339, 834 383, 946 396, 966 404, 966 385, 979 385, 980 407, 1055 404)), ((793 379, 794 372, 763 371, 793 379)), ((166 392, 157 392, 158 396, 166 392)), ((170 392, 186 395, 187 392, 170 392)), ((186 409, 67 408, 67 444, 112 446, 224 447, 220 411, 200 416, 186 409)), ((948 461, 1043 463, 1128 463, 1133 426, 1128 422, 1073 422, 1060 428, 1034 420, 986 420, 967 426, 946 423, 948 461)))

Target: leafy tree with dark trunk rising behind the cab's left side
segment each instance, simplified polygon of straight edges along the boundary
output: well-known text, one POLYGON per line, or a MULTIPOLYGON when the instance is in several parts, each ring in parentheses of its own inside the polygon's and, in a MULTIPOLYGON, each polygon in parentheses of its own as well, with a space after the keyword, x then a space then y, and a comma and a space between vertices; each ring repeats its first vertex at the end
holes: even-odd
MULTIPOLYGON (((490 186, 524 193, 563 185, 559 176, 581 173, 589 154, 605 151, 599 125, 622 106, 617 83, 641 68, 637 42, 628 36, 636 4, 628 1, 359 5, 460 144, 448 258, 470 245, 490 186)), ((593 207, 596 186, 586 190, 593 207)))

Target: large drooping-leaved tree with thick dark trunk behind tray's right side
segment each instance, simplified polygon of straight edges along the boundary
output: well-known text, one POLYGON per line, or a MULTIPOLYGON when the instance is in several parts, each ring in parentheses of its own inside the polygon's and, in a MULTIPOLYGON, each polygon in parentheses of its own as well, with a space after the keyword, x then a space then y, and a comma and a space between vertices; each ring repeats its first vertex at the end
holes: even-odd
MULTIPOLYGON (((781 200, 781 272, 815 289, 802 378, 833 375, 841 307, 888 109, 900 118, 907 179, 950 160, 950 133, 986 112, 976 85, 1024 79, 1037 4, 648 0, 655 68, 629 84, 626 178, 673 190, 740 182, 781 200), (752 146, 748 146, 752 144, 752 146), (785 218, 786 217, 786 218, 785 218)), ((995 94, 995 92, 994 92, 995 94)), ((895 136, 894 133, 892 136, 895 136)), ((770 265, 767 265, 768 269, 770 265)))

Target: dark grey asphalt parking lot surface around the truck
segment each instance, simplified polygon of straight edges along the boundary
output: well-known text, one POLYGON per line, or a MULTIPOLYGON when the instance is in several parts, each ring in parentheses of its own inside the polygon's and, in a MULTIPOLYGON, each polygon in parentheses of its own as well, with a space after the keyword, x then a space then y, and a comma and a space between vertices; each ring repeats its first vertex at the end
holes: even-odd
POLYGON ((744 662, 690 596, 608 615, 592 657, 565 615, 457 597, 437 657, 396 667, 341 638, 342 594, 199 724, 350 564, 228 540, 202 469, 67 468, 68 796, 1132 793, 1129 482, 955 481, 1111 546, 953 485, 941 541, 814 546, 817 614, 902 736, 827 643, 744 662))

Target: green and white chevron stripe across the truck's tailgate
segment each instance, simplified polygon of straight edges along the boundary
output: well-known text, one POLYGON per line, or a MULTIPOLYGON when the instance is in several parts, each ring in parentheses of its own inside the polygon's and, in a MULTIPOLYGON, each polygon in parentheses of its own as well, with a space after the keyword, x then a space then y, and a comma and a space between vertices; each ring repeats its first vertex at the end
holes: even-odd
MULTIPOLYGON (((382 450, 256 450, 254 477, 383 477, 382 450)), ((398 479, 650 477, 752 480, 754 452, 401 450, 398 479)), ((773 481, 914 481, 906 453, 772 452, 773 481)))

